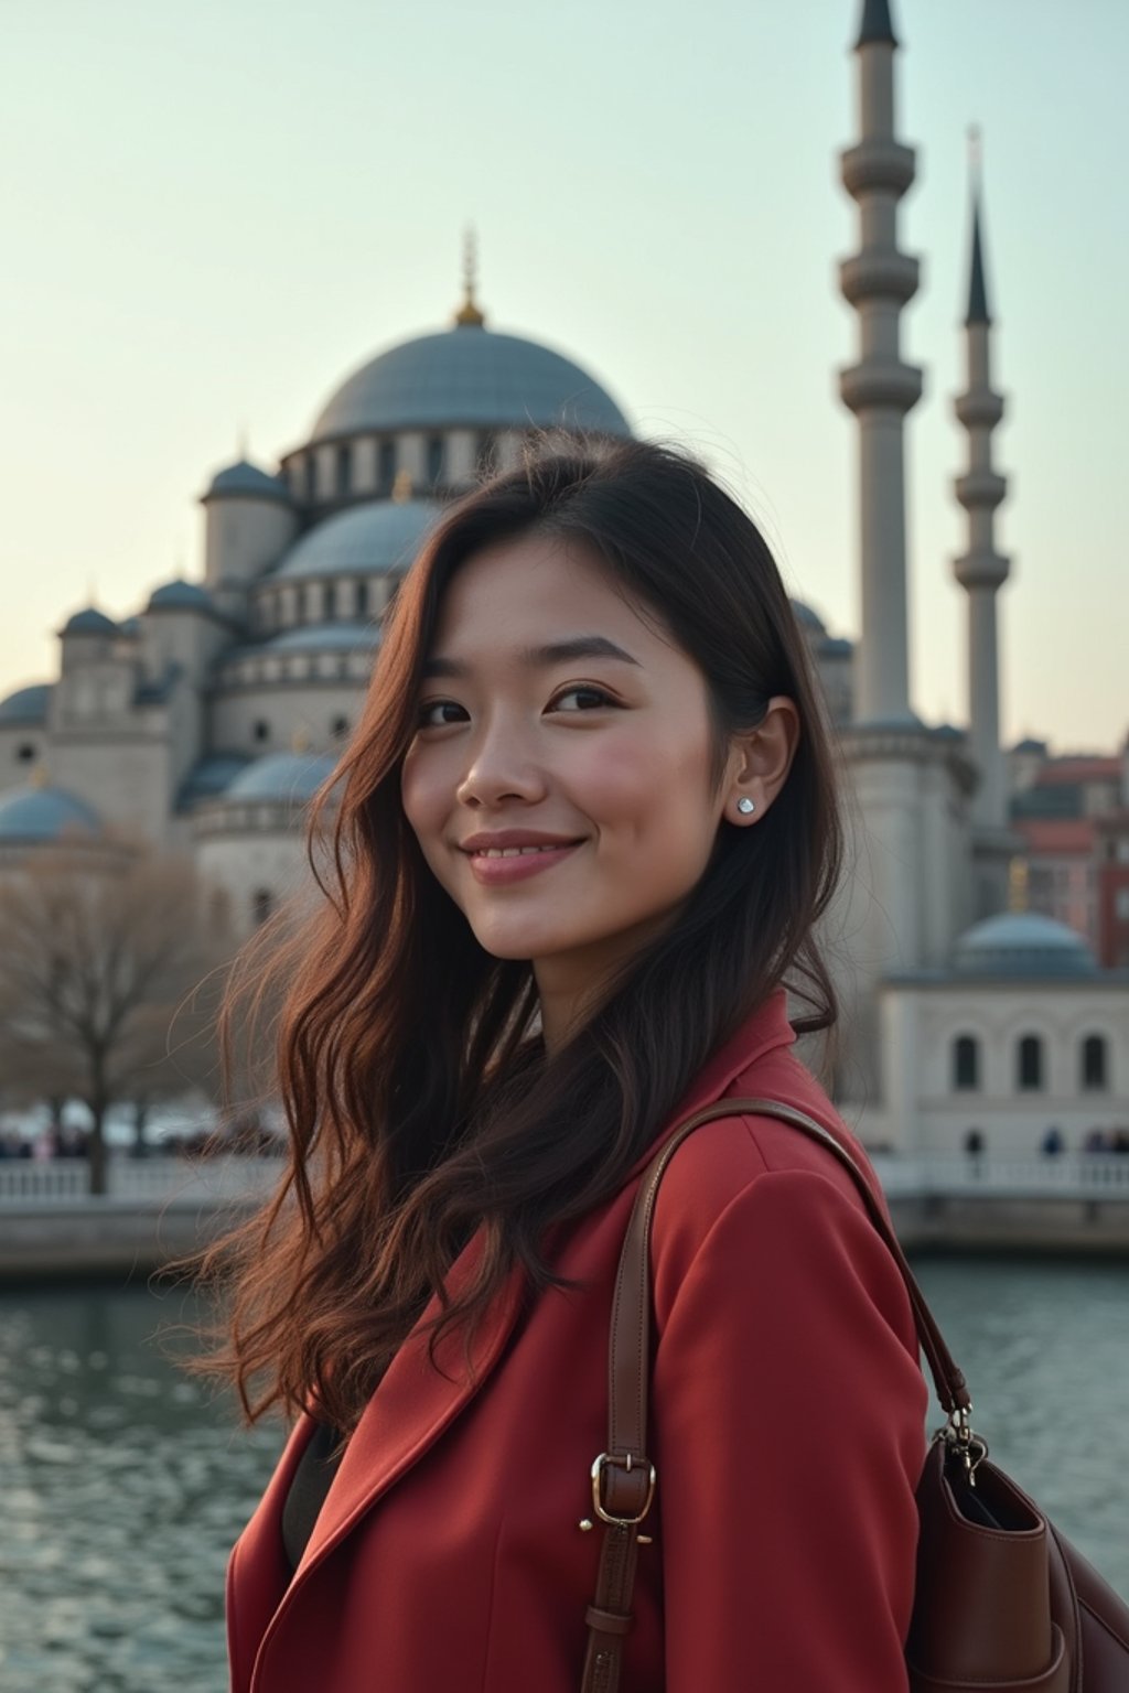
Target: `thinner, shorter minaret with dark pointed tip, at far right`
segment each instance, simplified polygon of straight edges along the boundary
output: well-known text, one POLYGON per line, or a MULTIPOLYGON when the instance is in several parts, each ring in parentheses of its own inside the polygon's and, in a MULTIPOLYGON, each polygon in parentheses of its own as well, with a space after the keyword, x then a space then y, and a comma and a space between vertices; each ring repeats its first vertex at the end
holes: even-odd
POLYGON ((1000 748, 1000 684, 995 594, 1009 574, 995 550, 992 525, 1007 484, 992 469, 992 430, 1004 416, 1004 400, 992 388, 992 315, 983 281, 978 142, 972 137, 972 264, 965 317, 967 388, 956 396, 956 416, 968 430, 968 469, 956 477, 956 498, 968 513, 968 550, 953 560, 953 574, 968 591, 968 725, 980 782, 972 801, 973 831, 1007 826, 1007 780, 1000 748))

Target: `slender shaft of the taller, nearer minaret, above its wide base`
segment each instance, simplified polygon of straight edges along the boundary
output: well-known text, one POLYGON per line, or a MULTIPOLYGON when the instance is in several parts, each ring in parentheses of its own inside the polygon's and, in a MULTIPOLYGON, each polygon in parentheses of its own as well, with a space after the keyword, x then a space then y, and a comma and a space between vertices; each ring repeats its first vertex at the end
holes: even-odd
POLYGON ((889 0, 865 0, 855 42, 862 139, 841 156, 843 186, 858 201, 860 247, 840 266, 840 288, 860 327, 858 364, 840 372, 860 444, 858 723, 916 721, 909 704, 902 420, 921 398, 921 371, 902 361, 899 347, 899 317, 917 291, 917 261, 897 247, 897 201, 914 181, 914 151, 894 139, 895 49, 889 0))

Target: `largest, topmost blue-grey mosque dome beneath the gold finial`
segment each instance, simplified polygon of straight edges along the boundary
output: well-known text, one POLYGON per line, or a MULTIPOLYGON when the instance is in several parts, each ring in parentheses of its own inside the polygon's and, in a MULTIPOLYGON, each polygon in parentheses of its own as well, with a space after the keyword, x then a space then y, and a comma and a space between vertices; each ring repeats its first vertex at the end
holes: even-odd
POLYGON ((630 435, 579 364, 520 335, 459 325, 381 352, 342 383, 311 442, 369 430, 553 428, 630 435))

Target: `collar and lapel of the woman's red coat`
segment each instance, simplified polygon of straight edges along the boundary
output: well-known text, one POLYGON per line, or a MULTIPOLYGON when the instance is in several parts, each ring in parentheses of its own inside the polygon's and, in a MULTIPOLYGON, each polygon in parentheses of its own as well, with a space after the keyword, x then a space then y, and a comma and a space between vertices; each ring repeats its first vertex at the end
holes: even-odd
MULTIPOLYGON (((787 1021, 785 994, 777 989, 735 1034, 718 1048, 713 1058, 694 1078, 691 1089, 670 1114, 655 1141, 642 1153, 626 1177, 633 1182, 650 1161, 655 1146, 675 1122, 691 1116, 701 1106, 721 1099, 724 1092, 767 1051, 787 1046, 796 1034, 787 1021)), ((459 1255, 447 1277, 447 1290, 462 1292, 479 1270, 484 1236, 479 1231, 459 1255)), ((498 1365, 521 1312, 521 1273, 509 1277, 501 1297, 482 1321, 472 1341, 472 1368, 467 1370, 464 1337, 447 1334, 437 1349, 435 1368, 428 1358, 428 1336, 423 1326, 438 1314, 440 1302, 433 1299, 416 1327, 393 1358, 384 1378, 369 1400, 357 1429, 342 1456, 333 1485, 325 1498, 317 1525, 305 1549, 293 1581, 286 1586, 286 1568, 281 1552, 281 1512, 286 1492, 293 1481, 301 1453, 313 1434, 313 1420, 303 1415, 295 1427, 274 1478, 244 1530, 237 1547, 240 1564, 273 1571, 274 1617, 266 1629, 262 1646, 278 1627, 291 1598, 305 1585, 310 1573, 357 1525, 372 1505, 428 1451, 440 1434, 459 1417, 482 1388, 498 1365), (284 1593, 283 1593, 284 1588, 284 1593), (279 1603, 281 1600, 281 1603, 279 1603)), ((264 1595, 266 1596, 266 1595, 264 1595)), ((267 1600, 267 1612, 273 1608, 267 1600)), ((264 1619, 266 1620, 266 1619, 264 1619)))

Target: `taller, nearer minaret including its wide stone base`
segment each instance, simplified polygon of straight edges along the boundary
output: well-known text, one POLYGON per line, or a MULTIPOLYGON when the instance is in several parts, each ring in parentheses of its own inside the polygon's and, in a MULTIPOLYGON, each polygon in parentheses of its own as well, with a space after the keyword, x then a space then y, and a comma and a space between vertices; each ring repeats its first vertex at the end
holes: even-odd
MULTIPOLYGON (((836 1095, 865 1109, 867 1134, 892 1146, 914 1136, 914 1036, 887 1026, 892 975, 943 970, 972 921, 967 738, 929 728, 909 696, 906 582, 906 413, 921 371, 900 356, 902 306, 917 261, 899 252, 897 205, 914 181, 914 152, 894 135, 897 41, 889 0, 865 0, 855 41, 860 141, 841 156, 858 201, 858 252, 840 284, 858 312, 858 362, 840 376, 858 418, 862 631, 855 714, 840 728, 846 796, 846 865, 828 914, 843 1006, 836 1095)), ((900 1004, 900 1001, 899 1001, 900 1004)))

